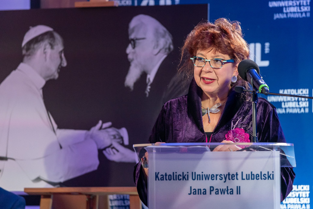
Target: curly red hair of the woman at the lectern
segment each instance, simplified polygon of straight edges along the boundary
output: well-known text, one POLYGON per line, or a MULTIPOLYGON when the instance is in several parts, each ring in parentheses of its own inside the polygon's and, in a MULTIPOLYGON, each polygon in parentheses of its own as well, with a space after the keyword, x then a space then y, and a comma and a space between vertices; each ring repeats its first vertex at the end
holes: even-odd
MULTIPOLYGON (((193 76, 194 65, 190 57, 196 56, 198 50, 214 50, 229 55, 237 65, 249 58, 249 47, 243 39, 240 23, 219 18, 214 23, 200 22, 187 36, 182 47, 179 71, 188 77, 193 76)), ((248 83, 239 75, 232 86, 245 86, 248 83)))

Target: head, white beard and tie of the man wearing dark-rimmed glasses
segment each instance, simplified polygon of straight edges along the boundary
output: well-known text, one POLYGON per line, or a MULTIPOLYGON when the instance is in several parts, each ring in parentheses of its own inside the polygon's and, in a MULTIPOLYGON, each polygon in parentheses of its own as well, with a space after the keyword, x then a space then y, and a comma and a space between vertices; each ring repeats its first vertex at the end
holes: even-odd
POLYGON ((139 91, 146 97, 154 97, 160 92, 162 95, 169 83, 167 78, 175 75, 176 66, 166 59, 173 50, 172 35, 159 21, 144 14, 132 18, 128 34, 130 43, 126 53, 131 65, 125 78, 125 87, 133 91, 134 84, 145 73, 145 81, 139 91))

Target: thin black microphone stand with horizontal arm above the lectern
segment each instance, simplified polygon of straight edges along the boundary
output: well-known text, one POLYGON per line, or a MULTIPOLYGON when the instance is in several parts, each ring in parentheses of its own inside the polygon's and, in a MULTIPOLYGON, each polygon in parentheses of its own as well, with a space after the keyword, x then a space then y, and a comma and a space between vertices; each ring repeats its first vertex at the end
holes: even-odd
MULTIPOLYGON (((252 102, 252 142, 259 142, 257 137, 257 130, 256 130, 256 103, 258 102, 258 93, 262 93, 260 91, 257 91, 257 89, 248 90, 245 89, 243 86, 235 86, 235 91, 238 93, 242 93, 243 91, 248 91, 252 93, 251 102, 252 102)), ((284 96, 284 97, 298 97, 298 98, 306 98, 306 99, 313 99, 313 97, 307 97, 307 96, 300 96, 300 95, 292 95, 292 94, 278 94, 278 93, 268 93, 270 95, 278 95, 278 96, 284 96)))

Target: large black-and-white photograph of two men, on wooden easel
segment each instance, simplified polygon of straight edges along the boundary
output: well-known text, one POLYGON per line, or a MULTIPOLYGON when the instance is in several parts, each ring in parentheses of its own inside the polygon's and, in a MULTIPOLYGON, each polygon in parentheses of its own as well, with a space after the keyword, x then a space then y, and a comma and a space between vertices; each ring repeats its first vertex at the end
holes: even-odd
POLYGON ((134 185, 132 144, 186 94, 179 47, 207 17, 205 5, 159 8, 2 12, 1 187, 134 185))

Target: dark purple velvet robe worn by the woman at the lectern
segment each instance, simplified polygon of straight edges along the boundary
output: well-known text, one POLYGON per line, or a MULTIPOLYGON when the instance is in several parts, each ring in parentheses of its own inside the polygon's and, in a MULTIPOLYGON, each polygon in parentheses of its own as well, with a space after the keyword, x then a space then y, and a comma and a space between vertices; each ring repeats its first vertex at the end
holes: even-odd
MULTIPOLYGON (((165 103, 151 131, 149 143, 206 142, 201 95, 202 90, 193 79, 187 95, 165 103)), ((222 142, 228 131, 234 128, 244 129, 252 140, 252 103, 246 101, 243 94, 231 89, 222 116, 212 133, 211 142, 222 142)), ((257 102, 257 136, 259 142, 286 142, 276 108, 264 98, 259 98, 257 102)), ((280 172, 283 201, 292 190, 295 173, 290 167, 281 167, 280 172)), ((141 201, 147 204, 147 182, 143 178, 140 163, 135 166, 134 181, 141 201)))

